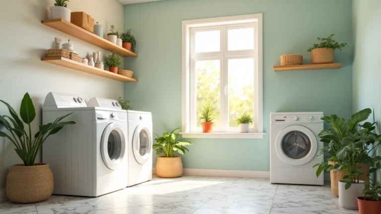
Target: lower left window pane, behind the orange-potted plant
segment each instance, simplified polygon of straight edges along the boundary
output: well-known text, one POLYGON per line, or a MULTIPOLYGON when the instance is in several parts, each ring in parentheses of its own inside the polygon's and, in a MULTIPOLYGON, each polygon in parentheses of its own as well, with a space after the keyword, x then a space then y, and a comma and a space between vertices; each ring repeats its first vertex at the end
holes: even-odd
POLYGON ((197 61, 196 66, 197 127, 201 127, 202 105, 214 105, 214 127, 220 125, 220 60, 197 61))

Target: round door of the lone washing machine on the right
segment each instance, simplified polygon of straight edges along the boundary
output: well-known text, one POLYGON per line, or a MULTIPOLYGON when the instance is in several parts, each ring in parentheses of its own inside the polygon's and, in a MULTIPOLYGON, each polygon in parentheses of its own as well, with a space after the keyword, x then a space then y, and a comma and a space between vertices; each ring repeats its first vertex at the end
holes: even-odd
POLYGON ((301 125, 284 128, 276 138, 278 156, 286 163, 303 165, 312 160, 318 150, 318 140, 314 133, 301 125))

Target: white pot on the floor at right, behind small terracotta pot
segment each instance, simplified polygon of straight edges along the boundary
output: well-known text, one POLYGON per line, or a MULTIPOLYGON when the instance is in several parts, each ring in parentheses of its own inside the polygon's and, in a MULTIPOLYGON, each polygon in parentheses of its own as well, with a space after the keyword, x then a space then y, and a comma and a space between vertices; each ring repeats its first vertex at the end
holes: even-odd
POLYGON ((352 183, 351 187, 345 189, 344 180, 339 180, 339 205, 345 209, 358 210, 357 197, 362 196, 365 188, 364 181, 352 183))

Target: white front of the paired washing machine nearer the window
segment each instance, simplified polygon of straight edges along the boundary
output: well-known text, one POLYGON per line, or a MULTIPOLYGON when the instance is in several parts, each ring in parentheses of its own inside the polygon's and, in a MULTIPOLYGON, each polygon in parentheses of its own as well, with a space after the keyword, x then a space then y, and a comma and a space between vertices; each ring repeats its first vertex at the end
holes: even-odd
POLYGON ((127 110, 128 184, 133 186, 152 179, 151 112, 127 110))

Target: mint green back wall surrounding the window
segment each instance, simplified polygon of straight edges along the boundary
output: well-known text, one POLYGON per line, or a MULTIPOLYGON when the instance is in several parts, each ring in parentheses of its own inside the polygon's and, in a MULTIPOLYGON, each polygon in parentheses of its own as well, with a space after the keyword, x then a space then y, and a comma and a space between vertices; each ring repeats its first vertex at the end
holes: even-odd
MULTIPOLYGON (((135 110, 151 111, 153 131, 181 127, 181 21, 263 13, 263 139, 187 139, 185 168, 269 170, 269 115, 275 111, 352 113, 351 0, 165 0, 125 6, 137 58, 126 58, 138 83, 125 84, 135 110), (336 34, 348 47, 336 52, 339 70, 274 72, 282 54, 303 54, 317 37, 336 34)), ((156 162, 156 160, 154 160, 156 162)))

